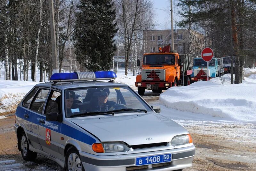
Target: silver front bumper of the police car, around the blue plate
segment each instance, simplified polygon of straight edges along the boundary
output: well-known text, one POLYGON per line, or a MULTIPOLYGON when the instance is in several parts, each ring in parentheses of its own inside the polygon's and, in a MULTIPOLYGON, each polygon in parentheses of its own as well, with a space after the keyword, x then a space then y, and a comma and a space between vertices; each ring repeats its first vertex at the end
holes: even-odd
POLYGON ((170 171, 178 170, 192 166, 195 156, 195 146, 161 150, 155 152, 133 153, 114 156, 97 156, 86 152, 79 151, 85 170, 93 171, 126 171, 126 170, 154 170, 170 171), (136 166, 136 158, 147 157, 161 154, 172 154, 172 160, 167 163, 149 164, 136 166))

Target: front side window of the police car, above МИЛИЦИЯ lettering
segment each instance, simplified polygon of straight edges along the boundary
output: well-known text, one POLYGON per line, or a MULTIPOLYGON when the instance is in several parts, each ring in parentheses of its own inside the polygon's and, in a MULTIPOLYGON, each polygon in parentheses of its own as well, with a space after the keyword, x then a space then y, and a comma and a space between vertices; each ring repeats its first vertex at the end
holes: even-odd
POLYGON ((45 106, 44 115, 48 113, 61 113, 61 94, 52 90, 45 106))

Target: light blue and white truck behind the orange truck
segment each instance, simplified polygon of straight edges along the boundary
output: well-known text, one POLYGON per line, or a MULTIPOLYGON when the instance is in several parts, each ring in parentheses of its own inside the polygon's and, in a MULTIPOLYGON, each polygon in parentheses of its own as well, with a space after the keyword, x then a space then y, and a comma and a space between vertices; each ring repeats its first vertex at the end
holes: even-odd
MULTIPOLYGON (((202 58, 194 58, 192 67, 191 80, 194 81, 207 81, 207 62, 202 58)), ((209 79, 219 77, 223 74, 222 61, 218 61, 217 58, 212 58, 209 62, 209 79)))

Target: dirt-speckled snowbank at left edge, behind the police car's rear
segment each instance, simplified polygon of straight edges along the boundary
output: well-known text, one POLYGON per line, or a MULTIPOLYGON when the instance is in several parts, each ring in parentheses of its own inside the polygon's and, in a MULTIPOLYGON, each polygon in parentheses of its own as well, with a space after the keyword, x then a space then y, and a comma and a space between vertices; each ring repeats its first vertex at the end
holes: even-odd
POLYGON ((15 112, 20 100, 36 84, 30 81, 0 81, 0 115, 15 112))

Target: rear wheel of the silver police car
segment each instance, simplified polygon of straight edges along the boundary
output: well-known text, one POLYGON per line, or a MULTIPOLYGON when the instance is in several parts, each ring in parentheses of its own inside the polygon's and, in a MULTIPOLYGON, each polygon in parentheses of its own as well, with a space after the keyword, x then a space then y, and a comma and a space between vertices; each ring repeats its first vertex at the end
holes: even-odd
POLYGON ((37 153, 29 150, 28 138, 23 131, 20 136, 19 146, 21 148, 21 156, 26 161, 35 161, 37 153))

